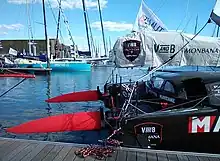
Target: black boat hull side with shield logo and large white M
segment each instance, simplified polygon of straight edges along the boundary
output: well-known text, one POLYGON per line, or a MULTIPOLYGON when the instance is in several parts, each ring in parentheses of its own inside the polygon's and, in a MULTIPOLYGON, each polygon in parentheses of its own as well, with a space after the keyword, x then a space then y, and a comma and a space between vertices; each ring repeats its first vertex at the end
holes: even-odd
POLYGON ((219 116, 210 110, 126 119, 122 125, 123 146, 220 153, 219 116))

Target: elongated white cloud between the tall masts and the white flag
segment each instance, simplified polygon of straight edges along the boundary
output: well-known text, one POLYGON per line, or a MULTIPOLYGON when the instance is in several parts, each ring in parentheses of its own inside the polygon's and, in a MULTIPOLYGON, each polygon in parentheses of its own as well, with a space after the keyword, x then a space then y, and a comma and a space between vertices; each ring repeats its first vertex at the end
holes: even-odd
MULTIPOLYGON (((108 31, 126 31, 131 30, 133 25, 125 22, 105 21, 103 22, 103 26, 104 29, 108 31)), ((91 24, 91 27, 101 30, 100 21, 93 22, 91 24)))

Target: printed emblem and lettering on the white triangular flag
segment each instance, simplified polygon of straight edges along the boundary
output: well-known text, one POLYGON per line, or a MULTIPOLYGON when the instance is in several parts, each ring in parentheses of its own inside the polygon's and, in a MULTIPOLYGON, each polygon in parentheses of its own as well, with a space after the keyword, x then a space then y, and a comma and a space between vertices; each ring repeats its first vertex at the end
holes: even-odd
POLYGON ((157 22, 153 21, 146 15, 142 15, 138 19, 138 26, 141 28, 148 28, 148 26, 151 26, 154 31, 163 31, 165 30, 162 26, 160 26, 157 22))

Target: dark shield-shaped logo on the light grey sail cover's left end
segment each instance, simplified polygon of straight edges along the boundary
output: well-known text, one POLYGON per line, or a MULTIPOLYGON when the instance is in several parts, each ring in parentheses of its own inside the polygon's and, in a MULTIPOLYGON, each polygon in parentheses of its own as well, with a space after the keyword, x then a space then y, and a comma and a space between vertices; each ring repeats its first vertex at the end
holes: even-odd
POLYGON ((123 42, 123 53, 126 59, 133 62, 140 55, 141 42, 138 40, 127 40, 123 42))

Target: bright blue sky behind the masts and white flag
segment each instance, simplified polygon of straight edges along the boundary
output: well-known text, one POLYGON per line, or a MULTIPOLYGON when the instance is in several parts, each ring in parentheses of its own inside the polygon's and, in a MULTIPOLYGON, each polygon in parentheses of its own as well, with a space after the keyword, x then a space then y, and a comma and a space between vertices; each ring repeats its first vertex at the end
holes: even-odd
MULTIPOLYGON (((57 0, 45 0, 48 23, 48 35, 56 37, 57 0), (52 9, 51 9, 52 7, 52 9)), ((141 0, 100 0, 106 39, 111 38, 112 45, 117 37, 130 32, 135 22, 141 0)), ((80 49, 87 48, 86 32, 80 0, 62 1, 65 16, 69 21, 74 41, 80 49)), ((208 20, 215 0, 145 0, 169 30, 183 30, 193 33, 198 14, 198 29, 208 20), (186 12, 188 11, 188 12, 186 12), (188 25, 187 25, 188 23, 188 25)), ((92 33, 97 44, 102 46, 100 20, 96 0, 86 0, 92 33)), ((35 39, 44 39, 41 0, 1 0, 0 39, 26 39, 28 35, 28 15, 35 39), (29 2, 29 5, 27 5, 29 2), (29 14, 27 14, 27 7, 29 14)), ((61 19, 62 42, 70 44, 66 27, 61 19)), ((211 36, 214 24, 209 24, 201 35, 211 36)))

